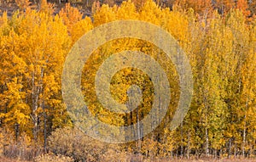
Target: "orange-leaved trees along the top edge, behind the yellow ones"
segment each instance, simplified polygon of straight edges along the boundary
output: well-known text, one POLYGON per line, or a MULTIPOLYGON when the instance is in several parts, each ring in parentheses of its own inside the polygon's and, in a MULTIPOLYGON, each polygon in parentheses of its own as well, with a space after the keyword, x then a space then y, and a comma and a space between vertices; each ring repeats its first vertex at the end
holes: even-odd
MULTIPOLYGON (((15 6, 25 9, 30 5, 36 5, 40 8, 42 0, 0 0, 1 3, 14 3, 15 6)), ((132 0, 137 8, 143 6, 147 0, 132 0)), ((120 5, 123 0, 48 0, 48 3, 59 6, 64 3, 71 3, 80 10, 92 10, 96 5, 108 3, 109 6, 120 5), (83 8, 83 9, 82 9, 83 8)), ((162 8, 172 8, 176 5, 182 8, 193 8, 196 13, 206 14, 217 9, 220 14, 226 14, 231 8, 239 8, 245 15, 252 16, 256 14, 256 2, 253 0, 155 0, 157 5, 162 8), (207 11, 207 12, 206 12, 207 11)), ((88 14, 88 13, 87 13, 88 14)))

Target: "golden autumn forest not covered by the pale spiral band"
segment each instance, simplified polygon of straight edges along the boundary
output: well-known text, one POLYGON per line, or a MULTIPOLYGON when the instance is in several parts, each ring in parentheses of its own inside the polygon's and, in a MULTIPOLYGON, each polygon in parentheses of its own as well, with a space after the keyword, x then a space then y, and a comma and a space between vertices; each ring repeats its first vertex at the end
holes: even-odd
POLYGON ((0 160, 255 160, 254 0, 0 0, 0 6, 0 160), (176 129, 170 130, 168 123, 180 98, 177 70, 159 47, 136 38, 98 47, 84 64, 81 90, 90 111, 102 122, 113 126, 139 122, 154 99, 147 74, 125 68, 113 75, 110 91, 115 101, 125 103, 131 85, 143 90, 143 103, 125 114, 111 112, 97 101, 94 81, 113 53, 146 53, 164 68, 171 88, 160 126, 122 144, 97 141, 74 126, 62 98, 63 65, 81 36, 115 20, 160 26, 186 53, 193 73, 193 98, 176 129))

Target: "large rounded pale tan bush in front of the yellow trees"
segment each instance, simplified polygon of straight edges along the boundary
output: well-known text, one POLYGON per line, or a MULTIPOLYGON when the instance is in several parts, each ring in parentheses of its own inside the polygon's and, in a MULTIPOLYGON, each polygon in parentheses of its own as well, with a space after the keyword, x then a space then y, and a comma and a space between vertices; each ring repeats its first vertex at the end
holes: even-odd
POLYGON ((102 142, 84 135, 77 128, 59 128, 48 138, 49 151, 73 157, 76 161, 99 161, 99 155, 105 152, 102 142))

